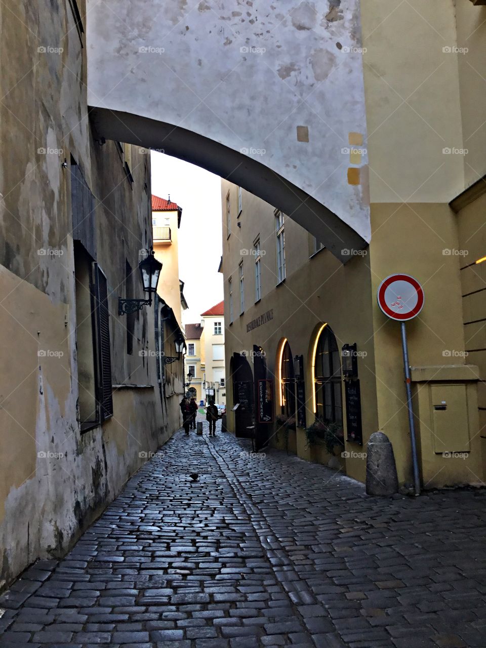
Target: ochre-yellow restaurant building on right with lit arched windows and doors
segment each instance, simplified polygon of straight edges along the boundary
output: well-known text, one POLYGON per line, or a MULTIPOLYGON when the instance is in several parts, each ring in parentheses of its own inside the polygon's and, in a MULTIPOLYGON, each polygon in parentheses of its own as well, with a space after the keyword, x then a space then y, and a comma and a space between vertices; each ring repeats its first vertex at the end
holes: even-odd
POLYGON ((486 182, 452 202, 446 186, 442 195, 442 203, 372 202, 371 244, 350 249, 343 265, 286 214, 222 180, 228 430, 248 437, 256 428, 260 446, 270 441, 360 481, 369 436, 385 432, 410 490, 400 323, 376 302, 383 279, 408 273, 425 292, 406 324, 421 486, 483 483, 486 182))

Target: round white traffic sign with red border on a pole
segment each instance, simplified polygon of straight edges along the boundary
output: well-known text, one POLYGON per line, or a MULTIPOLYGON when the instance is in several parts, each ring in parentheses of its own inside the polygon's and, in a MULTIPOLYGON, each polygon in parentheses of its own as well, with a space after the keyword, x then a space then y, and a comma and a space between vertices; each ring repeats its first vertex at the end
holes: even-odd
POLYGON ((389 275, 378 286, 378 306, 391 319, 417 317, 424 305, 424 291, 410 275, 389 275))

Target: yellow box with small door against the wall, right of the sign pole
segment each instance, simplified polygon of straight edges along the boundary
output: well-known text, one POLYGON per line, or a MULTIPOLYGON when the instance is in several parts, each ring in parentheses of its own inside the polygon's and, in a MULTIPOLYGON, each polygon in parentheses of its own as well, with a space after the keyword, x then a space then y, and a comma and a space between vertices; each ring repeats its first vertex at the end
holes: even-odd
POLYGON ((422 488, 482 483, 478 367, 411 367, 422 488))

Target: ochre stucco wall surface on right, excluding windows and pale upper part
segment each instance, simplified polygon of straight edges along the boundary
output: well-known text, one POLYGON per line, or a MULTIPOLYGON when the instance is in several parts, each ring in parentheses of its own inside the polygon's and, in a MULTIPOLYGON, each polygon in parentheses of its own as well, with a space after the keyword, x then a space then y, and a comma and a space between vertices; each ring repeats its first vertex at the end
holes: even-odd
MULTIPOLYGON (((448 251, 465 249, 469 255, 470 249, 471 259, 480 258, 478 249, 485 244, 481 244, 480 239, 474 244, 474 249, 471 246, 472 240, 477 238, 474 226, 479 227, 483 196, 463 208, 466 215, 460 212, 456 215, 449 205, 414 204, 402 205, 400 209, 397 209, 398 205, 372 205, 376 235, 369 249, 354 256, 345 266, 334 259, 327 249, 316 251, 314 238, 290 218, 284 217, 285 276, 283 281, 277 281, 275 209, 252 194, 243 192, 242 211, 236 216, 238 187, 222 181, 224 205, 227 204, 228 193, 231 217, 235 220, 238 218, 242 224, 227 237, 225 223, 223 234, 226 364, 229 367, 228 429, 245 435, 242 428, 238 430, 238 421, 233 412, 233 406, 238 402, 235 381, 240 381, 235 370, 235 356, 248 360, 251 368, 248 380, 257 380, 256 358, 260 353, 264 356, 266 377, 273 382, 273 416, 277 419, 284 414, 280 394, 284 382, 282 352, 287 342, 292 358, 302 356, 303 359, 306 423, 299 426, 297 417, 297 425, 294 424, 296 430, 288 431, 283 424, 275 422, 268 429, 270 443, 280 446, 284 443, 288 450, 303 458, 330 462, 333 467, 340 466, 349 476, 364 481, 367 439, 380 430, 388 435, 393 444, 400 485, 412 483, 400 325, 386 318, 376 304, 376 289, 384 277, 397 271, 410 273, 421 279, 426 290, 424 310, 419 318, 407 324, 422 485, 431 488, 457 483, 482 483, 483 435, 486 434, 482 419, 484 404, 481 400, 485 378, 484 369, 481 369, 484 345, 480 343, 484 335, 482 295, 474 294, 474 306, 470 312, 468 297, 463 299, 461 296, 471 292, 471 282, 483 290, 478 276, 482 270, 481 265, 477 266, 480 270, 476 270, 476 266, 461 270, 465 257, 448 251), (436 231, 441 232, 441 240, 437 239, 436 231), (400 242, 399 246, 389 245, 393 237, 400 242), (469 241, 467 245, 466 239, 469 241), (409 255, 408 249, 415 250, 415 254, 409 255), (417 253, 419 250, 421 253, 417 253), (255 270, 258 259, 260 298, 256 287, 258 273, 255 270), (242 309, 241 265, 244 279, 242 309), (446 317, 443 305, 445 290, 446 317), (473 319, 476 319, 476 323, 472 323, 473 319), (336 445, 334 457, 322 445, 309 444, 305 432, 305 427, 310 426, 317 415, 313 402, 316 375, 312 365, 316 343, 324 325, 332 329, 336 336, 339 354, 345 343, 355 342, 358 351, 363 443, 349 439, 345 382, 340 365, 338 371, 345 441, 342 448, 336 445), (472 329, 476 338, 470 332, 472 329), (475 348, 478 351, 469 351, 468 354, 468 349, 475 348), (260 351, 255 353, 255 349, 260 351), (476 365, 480 366, 480 370, 476 365), (445 445, 441 445, 437 440, 440 440, 442 432, 437 432, 434 427, 433 410, 436 403, 433 398, 450 386, 457 386, 463 394, 461 404, 465 406, 467 415, 451 423, 455 427, 446 431, 445 445)), ((445 399, 451 396, 452 401, 456 397, 456 391, 454 395, 449 389, 444 393, 445 399)), ((255 410, 253 424, 257 415, 255 410)), ((244 421, 244 424, 249 422, 244 421)))

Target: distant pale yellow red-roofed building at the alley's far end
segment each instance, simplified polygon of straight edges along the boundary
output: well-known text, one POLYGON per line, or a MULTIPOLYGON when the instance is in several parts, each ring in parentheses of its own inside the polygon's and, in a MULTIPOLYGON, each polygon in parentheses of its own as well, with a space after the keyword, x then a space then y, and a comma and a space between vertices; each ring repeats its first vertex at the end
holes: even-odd
POLYGON ((192 373, 190 390, 195 389, 198 403, 214 400, 226 404, 224 303, 205 310, 201 318, 200 324, 187 324, 185 328, 185 373, 192 373))

